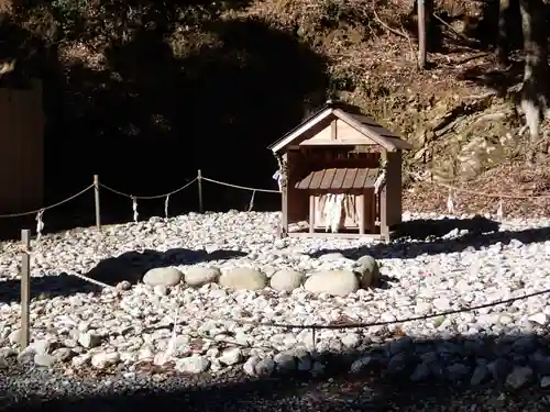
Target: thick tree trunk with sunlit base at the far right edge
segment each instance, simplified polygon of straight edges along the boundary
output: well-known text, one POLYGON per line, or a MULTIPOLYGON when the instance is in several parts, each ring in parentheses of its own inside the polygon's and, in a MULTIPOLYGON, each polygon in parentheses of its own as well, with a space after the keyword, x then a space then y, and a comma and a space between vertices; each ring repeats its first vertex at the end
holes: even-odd
POLYGON ((549 94, 544 3, 542 0, 520 0, 520 11, 525 53, 521 109, 529 126, 531 147, 535 147, 549 94))

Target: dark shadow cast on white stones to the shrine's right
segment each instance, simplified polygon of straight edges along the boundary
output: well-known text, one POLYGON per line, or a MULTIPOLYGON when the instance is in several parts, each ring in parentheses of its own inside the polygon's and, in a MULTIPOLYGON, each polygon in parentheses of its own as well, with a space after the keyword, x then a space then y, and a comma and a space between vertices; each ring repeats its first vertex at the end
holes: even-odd
POLYGON ((498 231, 499 223, 476 216, 473 219, 416 220, 404 222, 395 230, 395 241, 346 249, 321 249, 311 254, 319 257, 329 253, 341 253, 348 258, 371 255, 375 258, 415 258, 420 255, 458 253, 468 248, 480 249, 513 241, 522 244, 550 240, 550 227, 524 231, 498 231))

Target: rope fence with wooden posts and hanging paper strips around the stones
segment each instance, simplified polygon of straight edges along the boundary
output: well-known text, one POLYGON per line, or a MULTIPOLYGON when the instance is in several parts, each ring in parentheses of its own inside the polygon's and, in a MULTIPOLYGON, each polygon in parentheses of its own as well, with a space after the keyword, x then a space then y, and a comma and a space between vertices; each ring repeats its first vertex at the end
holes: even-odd
MULTIPOLYGON (((475 192, 473 190, 469 189, 462 189, 458 187, 453 187, 452 185, 444 183, 444 182, 438 182, 433 180, 428 180, 428 179, 422 179, 420 177, 416 177, 419 180, 422 180, 428 183, 433 183, 440 187, 448 188, 450 190, 449 192, 449 199, 448 199, 448 208, 451 212, 452 207, 452 192, 466 192, 470 194, 475 194, 475 196, 484 196, 488 198, 507 198, 507 199, 537 199, 537 198, 549 198, 549 194, 541 194, 541 196, 512 196, 512 194, 502 194, 502 193, 480 193, 475 192)), ((86 187, 85 189, 80 190, 79 192, 68 197, 65 200, 62 200, 59 202, 53 203, 51 205, 29 211, 29 212, 22 212, 22 213, 12 213, 12 214, 3 214, 0 215, 0 219, 10 219, 10 218, 21 218, 25 215, 36 215, 36 232, 37 236, 36 240, 40 240, 42 230, 44 227, 42 218, 45 211, 57 208, 64 203, 67 203, 84 193, 88 192, 89 190, 94 189, 95 191, 95 203, 96 203, 96 225, 98 230, 101 230, 101 221, 100 221, 100 201, 99 201, 99 194, 100 194, 100 189, 105 189, 107 191, 110 191, 114 194, 124 197, 127 199, 130 199, 132 201, 132 210, 133 210, 133 218, 134 221, 136 222, 139 219, 139 213, 138 213, 138 200, 158 200, 158 199, 164 199, 165 200, 165 215, 166 218, 168 216, 168 201, 170 196, 174 196, 187 188, 189 188, 194 183, 198 183, 198 197, 199 197, 199 210, 202 212, 202 181, 207 181, 210 183, 219 185, 219 186, 226 186, 229 188, 234 188, 239 190, 246 190, 252 192, 252 198, 251 202, 249 204, 249 211, 252 210, 253 208, 253 202, 254 202, 254 197, 256 192, 264 192, 264 193, 279 193, 279 190, 273 190, 273 189, 261 189, 261 188, 252 188, 252 187, 246 187, 246 186, 240 186, 240 185, 233 185, 220 180, 215 180, 210 179, 207 177, 204 177, 201 174, 201 170, 198 170, 197 177, 193 178, 191 180, 187 181, 184 186, 182 186, 178 189, 172 190, 167 193, 162 193, 162 194, 154 194, 154 196, 134 196, 131 193, 125 193, 123 191, 120 191, 118 189, 111 188, 108 185, 105 185, 99 181, 98 176, 94 176, 94 183, 86 187)), ((499 213, 502 214, 502 207, 499 207, 499 213)), ((21 231, 21 241, 22 241, 22 247, 21 247, 21 253, 22 253, 22 259, 21 259, 21 266, 20 266, 20 275, 21 275, 21 311, 22 311, 22 316, 21 316, 21 346, 24 348, 29 345, 30 343, 30 300, 31 300, 31 254, 32 254, 32 248, 31 248, 31 231, 30 230, 22 230, 21 231)), ((68 275, 75 276, 86 282, 96 285, 102 289, 109 289, 109 290, 117 290, 117 288, 103 283, 101 281, 98 281, 96 279, 91 279, 85 275, 75 272, 73 270, 66 270, 68 275)), ((389 326, 389 325, 395 325, 395 324, 404 324, 408 322, 414 322, 414 321, 424 321, 424 320, 429 320, 429 319, 436 319, 436 318, 444 318, 453 314, 459 314, 459 313, 464 313, 464 312, 474 312, 481 309, 486 309, 486 308, 492 308, 492 307, 497 307, 497 305, 503 305, 503 304, 510 304, 513 302, 519 301, 519 300, 526 300, 532 297, 541 296, 541 294, 548 294, 550 293, 550 289, 546 290, 540 290, 531 293, 527 293, 520 297, 514 297, 509 299, 504 299, 504 300, 498 300, 494 302, 488 302, 480 305, 472 305, 472 307, 466 307, 466 308, 461 308, 457 310, 449 310, 444 312, 438 312, 438 313, 432 313, 432 314, 426 314, 426 315, 419 315, 419 316, 413 316, 413 318, 406 318, 406 319, 397 319, 394 321, 376 321, 376 322, 370 322, 370 323, 353 323, 353 322, 345 322, 345 323, 338 323, 338 324, 285 324, 285 323, 276 323, 276 322, 254 322, 254 321, 248 321, 244 319, 241 320, 234 320, 234 322, 241 324, 241 325, 254 325, 254 326, 267 326, 267 327, 277 327, 277 329, 284 329, 284 330, 311 330, 312 335, 314 335, 314 343, 315 341, 315 333, 316 331, 320 330, 350 330, 350 329, 367 329, 372 326, 389 326)))

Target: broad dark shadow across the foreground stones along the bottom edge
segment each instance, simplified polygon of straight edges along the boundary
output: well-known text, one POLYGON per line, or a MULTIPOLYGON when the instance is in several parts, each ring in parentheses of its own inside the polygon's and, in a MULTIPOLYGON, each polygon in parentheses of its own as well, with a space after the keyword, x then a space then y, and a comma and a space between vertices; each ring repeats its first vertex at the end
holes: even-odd
MULTIPOLYGON (((342 331, 342 335, 349 333, 342 331)), ((84 380, 76 377, 51 379, 48 375, 31 378, 32 374, 10 376, 9 381, 21 379, 22 383, 18 389, 18 383, 12 383, 14 392, 9 392, 4 402, 0 402, 0 411, 480 412, 550 409, 549 392, 541 389, 544 377, 550 376, 547 336, 415 341, 394 335, 363 350, 336 352, 314 358, 327 366, 315 378, 309 372, 279 372, 274 377, 252 379, 234 372, 215 379, 179 375, 165 380, 132 382, 128 378, 109 378, 111 383, 105 386, 98 385, 86 371, 84 380), (358 365, 358 359, 361 359, 361 368, 352 374, 350 370, 358 365), (41 380, 46 379, 48 383, 41 386, 41 380), (68 383, 64 386, 62 380, 68 383), (52 390, 57 387, 61 393, 52 390), (26 396, 15 390, 23 390, 26 396)))

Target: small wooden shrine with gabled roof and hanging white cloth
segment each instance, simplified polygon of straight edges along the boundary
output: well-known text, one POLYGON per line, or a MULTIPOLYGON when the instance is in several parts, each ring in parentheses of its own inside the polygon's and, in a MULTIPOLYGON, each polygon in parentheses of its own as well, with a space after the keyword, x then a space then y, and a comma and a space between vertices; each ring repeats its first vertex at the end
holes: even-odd
POLYGON ((402 222, 402 152, 413 146, 342 103, 275 142, 283 236, 388 240, 402 222))

